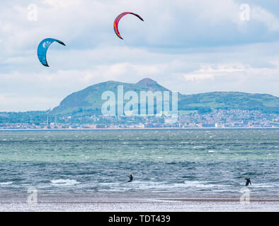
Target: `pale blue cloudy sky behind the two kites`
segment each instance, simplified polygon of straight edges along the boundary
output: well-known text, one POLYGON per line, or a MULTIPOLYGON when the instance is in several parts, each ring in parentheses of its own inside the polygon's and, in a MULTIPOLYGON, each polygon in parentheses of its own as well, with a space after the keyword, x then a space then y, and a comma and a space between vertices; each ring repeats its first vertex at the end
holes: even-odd
POLYGON ((52 109, 105 81, 279 97, 278 0, 0 1, 0 112, 52 109), (120 13, 120 40, 113 21, 120 13), (38 61, 52 37, 49 68, 38 61))

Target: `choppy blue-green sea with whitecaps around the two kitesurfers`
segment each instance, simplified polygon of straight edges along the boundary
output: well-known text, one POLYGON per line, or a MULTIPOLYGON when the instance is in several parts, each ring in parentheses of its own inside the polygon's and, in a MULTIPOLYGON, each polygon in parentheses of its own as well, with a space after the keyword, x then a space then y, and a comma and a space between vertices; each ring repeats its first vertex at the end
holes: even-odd
POLYGON ((279 130, 0 131, 0 192, 279 198, 279 130), (132 173, 134 182, 127 182, 132 173))

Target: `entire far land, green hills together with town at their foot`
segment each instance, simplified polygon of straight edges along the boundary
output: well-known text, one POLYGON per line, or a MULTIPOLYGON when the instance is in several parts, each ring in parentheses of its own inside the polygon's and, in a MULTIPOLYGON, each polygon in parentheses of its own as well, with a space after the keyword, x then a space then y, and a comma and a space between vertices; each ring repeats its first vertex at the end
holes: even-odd
POLYGON ((279 128, 278 120, 279 97, 273 95, 183 95, 144 78, 90 85, 45 111, 0 112, 0 130, 279 128))

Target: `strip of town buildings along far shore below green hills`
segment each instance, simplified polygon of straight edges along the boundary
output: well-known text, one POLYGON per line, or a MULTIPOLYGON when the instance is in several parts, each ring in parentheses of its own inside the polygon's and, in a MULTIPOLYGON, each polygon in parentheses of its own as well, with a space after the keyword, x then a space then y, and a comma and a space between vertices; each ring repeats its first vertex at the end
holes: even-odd
MULTIPOLYGON (((23 122, 0 121, 0 130, 22 129, 234 129, 234 128, 279 128, 279 114, 256 110, 212 109, 210 112, 180 111, 178 116, 105 117, 65 116, 50 117, 43 113, 40 121, 25 119, 23 122)), ((0 117, 4 116, 2 112, 0 117)))

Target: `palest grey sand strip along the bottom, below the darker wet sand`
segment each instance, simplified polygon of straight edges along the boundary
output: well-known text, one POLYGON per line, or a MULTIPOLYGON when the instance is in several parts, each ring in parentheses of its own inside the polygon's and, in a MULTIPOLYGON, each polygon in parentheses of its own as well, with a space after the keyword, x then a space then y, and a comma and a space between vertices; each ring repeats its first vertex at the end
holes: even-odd
POLYGON ((96 212, 278 212, 279 203, 273 201, 254 201, 249 204, 229 201, 144 201, 144 202, 96 202, 96 203, 1 203, 1 211, 96 211, 96 212))

